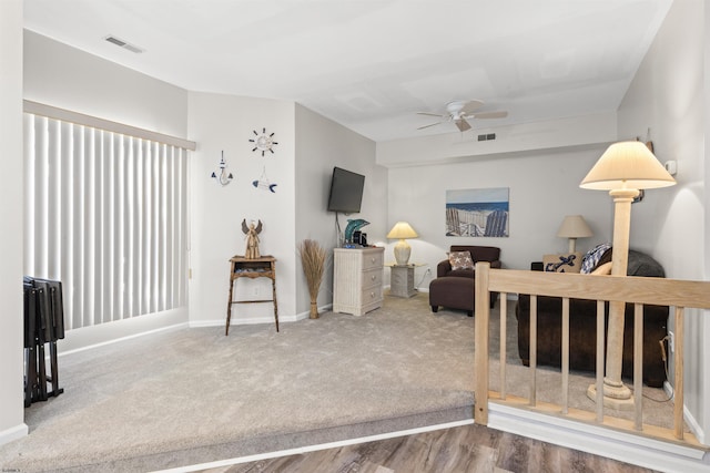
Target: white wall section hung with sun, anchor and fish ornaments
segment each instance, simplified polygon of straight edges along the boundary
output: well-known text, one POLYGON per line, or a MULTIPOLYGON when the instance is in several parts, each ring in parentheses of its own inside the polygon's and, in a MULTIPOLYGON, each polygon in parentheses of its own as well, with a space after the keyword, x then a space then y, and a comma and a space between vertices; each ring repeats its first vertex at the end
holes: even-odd
MULTIPOLYGON (((190 93, 190 136, 197 142, 191 162, 191 325, 224 323, 230 258, 244 255, 242 220, 261 219, 262 255, 276 257, 280 320, 295 317, 294 103, 212 93, 190 93), (253 131, 274 133, 274 153, 252 152, 253 131), (210 177, 224 151, 234 179, 220 186, 210 177), (263 172, 275 192, 253 186, 263 172)), ((271 280, 240 279, 235 300, 270 298, 271 280)), ((272 322, 271 304, 239 305, 232 323, 272 322)))

